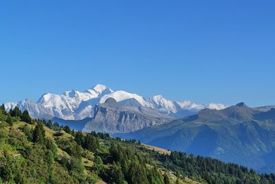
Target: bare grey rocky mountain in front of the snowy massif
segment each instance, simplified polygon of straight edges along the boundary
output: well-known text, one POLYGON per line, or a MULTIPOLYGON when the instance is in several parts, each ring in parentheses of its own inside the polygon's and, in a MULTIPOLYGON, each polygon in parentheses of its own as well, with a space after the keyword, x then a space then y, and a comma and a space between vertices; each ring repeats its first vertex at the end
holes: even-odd
MULTIPOLYGON (((138 104, 137 101, 132 103, 138 104)), ((115 99, 109 98, 104 103, 100 103, 94 110, 94 117, 83 128, 84 132, 133 132, 144 127, 160 125, 173 120, 156 110, 139 108, 130 105, 119 105, 115 99)))

